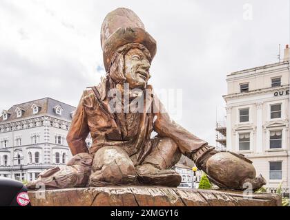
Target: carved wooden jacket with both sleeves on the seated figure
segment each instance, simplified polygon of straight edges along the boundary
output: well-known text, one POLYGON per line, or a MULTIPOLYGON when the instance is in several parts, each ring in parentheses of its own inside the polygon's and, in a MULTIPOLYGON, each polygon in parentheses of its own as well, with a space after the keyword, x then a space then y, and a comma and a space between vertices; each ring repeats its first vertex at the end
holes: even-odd
POLYGON ((67 136, 72 155, 95 154, 103 146, 121 146, 134 164, 141 164, 162 137, 171 137, 180 152, 188 156, 207 144, 170 119, 151 85, 147 85, 147 91, 148 94, 144 96, 144 111, 126 118, 125 113, 108 111, 106 80, 102 80, 94 89, 84 90, 67 136), (131 129, 126 129, 124 125, 128 121, 131 121, 131 129), (157 137, 151 138, 153 131, 157 133, 157 137), (86 145, 88 133, 93 140, 89 149, 86 145))

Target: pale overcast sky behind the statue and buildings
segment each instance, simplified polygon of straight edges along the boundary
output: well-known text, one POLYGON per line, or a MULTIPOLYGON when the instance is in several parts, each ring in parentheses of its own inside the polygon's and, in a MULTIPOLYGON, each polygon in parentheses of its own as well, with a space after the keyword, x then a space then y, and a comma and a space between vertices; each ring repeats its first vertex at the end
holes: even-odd
POLYGON ((157 41, 150 83, 182 89, 178 122, 214 146, 226 75, 276 63, 290 43, 289 0, 0 0, 0 111, 44 97, 77 106, 104 76, 99 31, 119 7, 157 41))

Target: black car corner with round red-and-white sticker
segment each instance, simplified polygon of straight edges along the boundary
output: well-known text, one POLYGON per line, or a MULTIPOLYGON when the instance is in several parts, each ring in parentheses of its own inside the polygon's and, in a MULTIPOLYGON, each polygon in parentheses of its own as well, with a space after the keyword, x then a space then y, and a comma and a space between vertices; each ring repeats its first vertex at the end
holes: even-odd
POLYGON ((0 206, 30 206, 26 186, 21 181, 0 177, 0 206))

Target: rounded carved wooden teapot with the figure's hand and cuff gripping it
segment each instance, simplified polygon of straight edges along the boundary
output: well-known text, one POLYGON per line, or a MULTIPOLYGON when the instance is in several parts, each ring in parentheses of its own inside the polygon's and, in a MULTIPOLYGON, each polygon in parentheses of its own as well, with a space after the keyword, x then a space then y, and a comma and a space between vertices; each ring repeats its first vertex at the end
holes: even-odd
POLYGON ((216 151, 205 145, 193 154, 193 161, 220 188, 256 190, 266 184, 262 175, 255 177, 251 160, 243 155, 216 151))

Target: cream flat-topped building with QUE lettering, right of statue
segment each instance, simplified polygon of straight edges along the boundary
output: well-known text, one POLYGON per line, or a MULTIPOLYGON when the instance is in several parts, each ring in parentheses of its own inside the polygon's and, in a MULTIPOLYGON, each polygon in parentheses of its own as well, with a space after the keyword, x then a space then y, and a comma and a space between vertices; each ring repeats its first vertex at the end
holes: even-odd
POLYGON ((226 150, 244 154, 270 192, 290 186, 289 47, 280 63, 226 77, 226 150))

